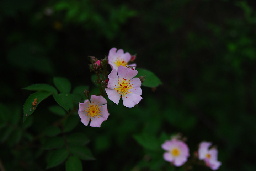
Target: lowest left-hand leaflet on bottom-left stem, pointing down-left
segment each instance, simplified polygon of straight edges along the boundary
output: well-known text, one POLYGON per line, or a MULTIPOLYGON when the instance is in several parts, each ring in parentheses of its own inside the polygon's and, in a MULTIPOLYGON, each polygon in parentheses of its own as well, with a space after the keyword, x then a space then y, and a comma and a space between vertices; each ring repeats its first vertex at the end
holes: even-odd
POLYGON ((57 149, 52 152, 47 161, 46 169, 51 167, 58 166, 61 164, 66 158, 68 158, 69 151, 67 149, 57 149))

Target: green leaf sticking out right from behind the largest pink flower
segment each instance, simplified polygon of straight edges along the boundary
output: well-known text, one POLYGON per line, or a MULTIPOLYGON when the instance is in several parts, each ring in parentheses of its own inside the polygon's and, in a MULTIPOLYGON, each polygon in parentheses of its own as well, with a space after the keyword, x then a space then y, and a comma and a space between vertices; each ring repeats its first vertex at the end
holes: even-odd
POLYGON ((146 75, 145 81, 142 83, 142 86, 152 88, 162 84, 160 79, 153 72, 141 68, 136 68, 136 70, 138 71, 137 77, 146 75))

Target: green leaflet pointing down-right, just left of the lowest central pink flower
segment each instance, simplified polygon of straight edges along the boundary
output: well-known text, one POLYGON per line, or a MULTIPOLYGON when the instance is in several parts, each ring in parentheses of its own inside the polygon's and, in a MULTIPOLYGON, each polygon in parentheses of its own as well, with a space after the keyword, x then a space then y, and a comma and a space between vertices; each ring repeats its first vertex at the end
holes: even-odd
POLYGON ((54 100, 62 106, 67 112, 69 111, 69 107, 72 105, 73 97, 69 93, 60 93, 53 94, 54 100))

